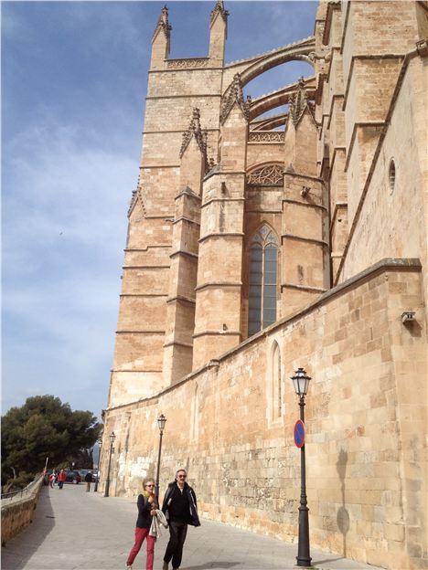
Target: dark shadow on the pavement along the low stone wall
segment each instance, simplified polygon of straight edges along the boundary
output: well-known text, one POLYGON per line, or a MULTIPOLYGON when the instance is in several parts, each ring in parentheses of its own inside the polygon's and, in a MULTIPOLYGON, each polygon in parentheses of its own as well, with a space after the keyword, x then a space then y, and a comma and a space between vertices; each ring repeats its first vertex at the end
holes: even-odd
POLYGON ((54 526, 55 515, 50 503, 48 488, 42 487, 33 522, 22 531, 26 534, 25 549, 22 548, 21 533, 16 534, 5 546, 2 546, 2 569, 20 570, 37 551, 39 545, 46 540, 54 526))

